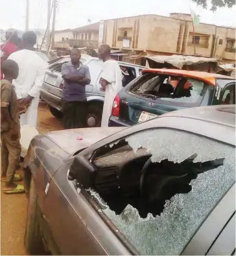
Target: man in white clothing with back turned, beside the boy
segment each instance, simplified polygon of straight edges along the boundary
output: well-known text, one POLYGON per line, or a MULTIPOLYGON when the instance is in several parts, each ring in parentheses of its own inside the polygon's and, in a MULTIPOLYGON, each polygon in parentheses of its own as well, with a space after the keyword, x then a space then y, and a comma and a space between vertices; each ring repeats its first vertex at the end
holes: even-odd
POLYGON ((19 105, 28 107, 21 115, 21 125, 32 125, 36 128, 40 88, 43 83, 47 62, 34 52, 36 34, 27 31, 22 36, 22 50, 12 53, 8 59, 14 60, 19 66, 19 76, 12 81, 15 86, 19 105))

